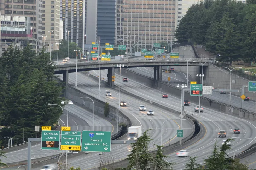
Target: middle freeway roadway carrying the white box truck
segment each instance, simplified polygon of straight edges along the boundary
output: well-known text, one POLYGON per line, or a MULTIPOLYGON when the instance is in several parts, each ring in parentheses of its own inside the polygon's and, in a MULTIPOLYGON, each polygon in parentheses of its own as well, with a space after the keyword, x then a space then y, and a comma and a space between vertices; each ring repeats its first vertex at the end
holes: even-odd
MULTIPOLYGON (((75 86, 75 73, 69 74, 69 84, 71 86, 75 86)), ((92 95, 96 98, 99 97, 99 82, 95 80, 95 78, 89 77, 84 73, 77 73, 77 89, 87 93, 88 95, 92 95)), ((106 90, 110 90, 112 93, 111 97, 108 97, 108 102, 112 106, 116 106, 118 102, 118 96, 114 93, 111 88, 105 86, 102 83, 100 88, 100 99, 106 100, 106 90)), ((153 147, 153 144, 160 145, 161 144, 161 126, 163 121, 167 119, 179 119, 178 116, 170 114, 168 111, 163 109, 159 109, 155 106, 152 106, 149 103, 146 103, 141 100, 137 100, 133 97, 121 93, 121 101, 124 100, 127 102, 127 107, 121 107, 121 111, 124 114, 127 114, 128 117, 134 117, 138 120, 139 125, 142 126, 143 132, 145 130, 151 129, 149 131, 151 138, 153 139, 150 147, 153 147), (152 109, 155 112, 154 116, 147 116, 146 112, 139 111, 139 105, 144 105, 147 109, 152 109)), ((184 132, 184 137, 188 134, 191 134, 193 127, 193 123, 190 121, 186 121, 183 123, 183 128, 186 129, 184 132)), ((138 124, 136 124, 138 125, 138 124)), ((175 143, 179 141, 176 138, 176 130, 180 128, 180 120, 170 120, 165 123, 163 126, 163 143, 165 145, 175 143)), ((111 145, 111 153, 105 153, 103 156, 113 156, 115 160, 126 158, 126 156, 130 153, 130 146, 125 144, 112 144, 111 145)), ((91 155, 86 155, 85 158, 70 158, 69 161, 71 166, 80 167, 81 169, 88 169, 94 166, 99 165, 100 156, 97 153, 91 153, 91 155), (85 159, 85 161, 79 161, 85 159), (98 160, 97 160, 98 159, 98 160), (97 161, 95 161, 97 160, 97 161)))

